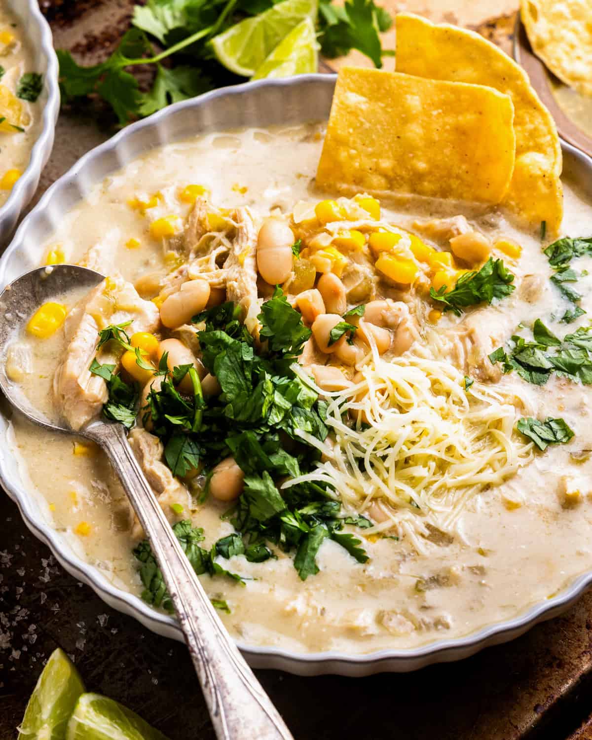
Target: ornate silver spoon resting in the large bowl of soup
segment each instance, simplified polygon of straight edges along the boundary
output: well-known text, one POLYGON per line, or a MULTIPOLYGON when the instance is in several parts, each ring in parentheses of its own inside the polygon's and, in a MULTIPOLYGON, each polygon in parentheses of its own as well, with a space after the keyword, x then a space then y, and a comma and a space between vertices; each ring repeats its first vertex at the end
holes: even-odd
MULTIPOLYGON (((28 420, 50 431, 73 434, 49 419, 6 374, 6 352, 42 303, 72 289, 91 289, 98 272, 73 265, 41 267, 21 275, 0 294, 0 388, 28 420)), ((79 437, 101 445, 144 527, 175 605, 216 735, 224 740, 292 740, 286 724, 224 628, 127 442, 123 425, 95 420, 79 437)))

